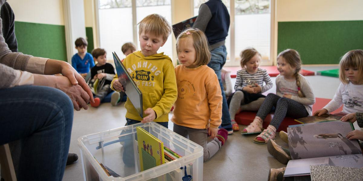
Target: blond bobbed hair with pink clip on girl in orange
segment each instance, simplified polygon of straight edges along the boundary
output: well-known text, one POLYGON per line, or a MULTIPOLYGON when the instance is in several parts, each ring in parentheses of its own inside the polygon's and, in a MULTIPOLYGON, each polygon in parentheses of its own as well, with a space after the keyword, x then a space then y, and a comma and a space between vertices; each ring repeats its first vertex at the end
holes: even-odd
MULTIPOLYGON (((207 37, 205 36, 204 32, 195 28, 188 28, 181 32, 176 38, 176 50, 178 50, 179 41, 181 39, 189 39, 193 42, 193 46, 196 51, 196 60, 195 65, 207 65, 211 60, 211 52, 208 49, 208 41, 207 37)), ((179 55, 179 51, 176 51, 179 55)))

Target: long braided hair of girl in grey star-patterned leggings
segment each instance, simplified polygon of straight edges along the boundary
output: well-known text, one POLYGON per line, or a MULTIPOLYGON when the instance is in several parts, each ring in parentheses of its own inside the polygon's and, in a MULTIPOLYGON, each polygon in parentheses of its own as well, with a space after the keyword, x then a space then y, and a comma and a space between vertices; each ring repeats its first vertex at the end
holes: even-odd
POLYGON ((295 68, 294 76, 296 78, 296 85, 299 97, 305 97, 305 95, 301 92, 301 83, 300 83, 301 58, 299 52, 293 49, 286 49, 280 52, 280 54, 278 54, 277 59, 280 57, 284 58, 286 63, 289 64, 290 67, 295 68))

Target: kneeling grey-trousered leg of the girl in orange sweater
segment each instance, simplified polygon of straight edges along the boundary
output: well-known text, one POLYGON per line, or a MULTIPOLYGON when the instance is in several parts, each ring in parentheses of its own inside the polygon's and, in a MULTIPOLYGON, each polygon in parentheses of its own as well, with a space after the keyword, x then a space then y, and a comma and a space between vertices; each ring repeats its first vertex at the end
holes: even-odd
MULTIPOLYGON (((222 146, 222 142, 218 138, 214 138, 207 144, 208 130, 187 128, 189 139, 203 147, 203 161, 207 161, 217 153, 222 146)), ((228 134, 228 133, 227 133, 228 134)))

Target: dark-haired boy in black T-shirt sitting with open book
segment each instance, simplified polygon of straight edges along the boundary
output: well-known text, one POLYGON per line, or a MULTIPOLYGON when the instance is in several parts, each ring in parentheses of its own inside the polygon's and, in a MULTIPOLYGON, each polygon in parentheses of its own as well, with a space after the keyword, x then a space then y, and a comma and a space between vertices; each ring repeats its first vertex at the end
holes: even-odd
POLYGON ((97 64, 91 68, 91 77, 94 80, 101 80, 103 77, 106 77, 105 84, 103 84, 102 89, 94 96, 94 103, 90 102, 92 107, 98 107, 103 98, 112 91, 110 84, 115 76, 115 69, 111 64, 106 63, 106 55, 105 49, 98 48, 92 51, 93 59, 97 62, 97 64))

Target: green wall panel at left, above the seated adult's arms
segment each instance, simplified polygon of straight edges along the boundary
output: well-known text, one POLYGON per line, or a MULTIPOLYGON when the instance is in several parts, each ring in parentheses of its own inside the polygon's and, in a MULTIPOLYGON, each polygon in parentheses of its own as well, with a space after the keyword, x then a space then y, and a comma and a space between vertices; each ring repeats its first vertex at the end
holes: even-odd
POLYGON ((15 21, 19 52, 57 60, 67 60, 64 25, 15 21))

